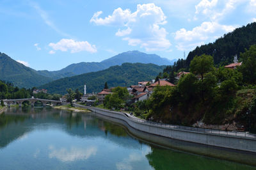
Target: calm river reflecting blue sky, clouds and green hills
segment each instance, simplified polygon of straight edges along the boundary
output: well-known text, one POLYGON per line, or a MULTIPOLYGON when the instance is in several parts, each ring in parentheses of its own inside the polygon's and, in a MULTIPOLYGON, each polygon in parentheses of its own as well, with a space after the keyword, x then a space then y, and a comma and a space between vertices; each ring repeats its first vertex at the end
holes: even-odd
POLYGON ((150 144, 90 112, 38 107, 10 108, 0 115, 0 169, 256 167, 150 144))

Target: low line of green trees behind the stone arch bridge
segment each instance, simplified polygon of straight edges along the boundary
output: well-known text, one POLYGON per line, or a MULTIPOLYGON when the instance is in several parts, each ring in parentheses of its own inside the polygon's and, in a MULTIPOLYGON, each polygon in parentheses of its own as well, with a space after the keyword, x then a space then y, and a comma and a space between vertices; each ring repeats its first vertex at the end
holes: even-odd
POLYGON ((0 100, 3 99, 17 99, 17 98, 43 98, 49 100, 60 100, 61 95, 58 94, 47 94, 47 93, 37 93, 33 94, 36 88, 26 89, 18 88, 13 86, 10 82, 0 81, 0 100))

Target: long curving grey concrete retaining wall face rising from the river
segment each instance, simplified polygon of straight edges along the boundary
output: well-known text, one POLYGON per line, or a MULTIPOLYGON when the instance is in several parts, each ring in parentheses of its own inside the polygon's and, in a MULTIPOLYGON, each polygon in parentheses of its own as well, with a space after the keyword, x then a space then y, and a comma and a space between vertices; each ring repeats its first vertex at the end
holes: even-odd
MULTIPOLYGON (((79 107, 82 106, 79 105, 79 107)), ((148 134, 160 135, 163 137, 178 139, 181 141, 207 144, 211 146, 219 146, 235 150, 252 151, 256 153, 256 139, 253 138, 250 139, 246 137, 230 135, 219 135, 196 131, 193 132, 191 130, 183 130, 178 128, 159 127, 157 125, 150 125, 147 123, 131 120, 131 118, 127 118, 127 116, 125 116, 125 114, 122 112, 108 111, 95 107, 83 107, 104 116, 109 116, 111 118, 126 121, 130 127, 135 128, 136 130, 140 130, 142 132, 147 132, 148 134)))

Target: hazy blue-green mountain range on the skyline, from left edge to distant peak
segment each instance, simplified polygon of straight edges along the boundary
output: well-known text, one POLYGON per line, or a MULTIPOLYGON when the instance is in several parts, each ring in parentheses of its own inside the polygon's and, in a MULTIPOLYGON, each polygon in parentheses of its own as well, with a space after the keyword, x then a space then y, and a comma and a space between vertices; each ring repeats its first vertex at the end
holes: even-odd
MULTIPOLYGON (((64 77, 72 77, 88 72, 97 72, 114 65, 122 65, 122 63, 155 63, 156 65, 172 65, 174 61, 160 58, 156 54, 145 54, 139 51, 128 51, 113 56, 99 63, 82 62, 68 65, 58 71, 49 72, 47 70, 36 71, 28 66, 18 63, 4 53, 0 52, 0 80, 12 82, 14 86, 19 88, 33 88, 42 86, 47 82, 51 82, 64 77)), ((140 75, 138 75, 140 77, 140 75)))

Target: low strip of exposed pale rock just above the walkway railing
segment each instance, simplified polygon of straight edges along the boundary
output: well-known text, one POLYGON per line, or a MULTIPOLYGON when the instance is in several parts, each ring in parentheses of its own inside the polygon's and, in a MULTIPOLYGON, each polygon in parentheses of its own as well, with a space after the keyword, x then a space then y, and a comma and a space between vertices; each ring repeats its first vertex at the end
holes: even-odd
POLYGON ((193 124, 193 127, 198 128, 210 128, 210 129, 217 129, 217 130, 228 130, 228 131, 234 131, 237 130, 236 122, 233 121, 233 123, 227 123, 224 125, 205 125, 203 121, 197 121, 193 124))

